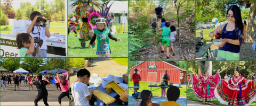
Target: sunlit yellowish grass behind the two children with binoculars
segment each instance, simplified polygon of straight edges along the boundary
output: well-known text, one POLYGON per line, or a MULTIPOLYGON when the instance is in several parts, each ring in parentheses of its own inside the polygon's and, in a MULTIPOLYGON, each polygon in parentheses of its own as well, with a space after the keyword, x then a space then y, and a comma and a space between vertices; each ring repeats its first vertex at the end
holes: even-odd
MULTIPOLYGON (((49 31, 65 35, 65 27, 58 27, 58 26, 65 26, 65 23, 51 22, 49 31)), ((3 30, 5 28, 5 26, 1 26, 1 28, 0 28, 1 33, 12 33, 12 26, 8 26, 8 27, 9 27, 9 29, 3 30)))

